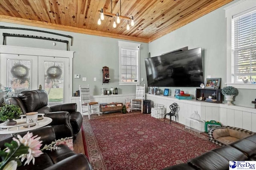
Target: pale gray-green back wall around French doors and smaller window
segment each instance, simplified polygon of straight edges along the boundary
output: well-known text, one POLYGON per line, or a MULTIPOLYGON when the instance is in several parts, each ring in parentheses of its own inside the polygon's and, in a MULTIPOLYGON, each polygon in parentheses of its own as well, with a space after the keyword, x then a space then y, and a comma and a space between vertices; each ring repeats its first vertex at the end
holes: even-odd
MULTIPOLYGON (((91 95, 100 95, 101 88, 110 90, 111 87, 118 88, 118 94, 135 93, 135 86, 119 86, 119 41, 126 41, 122 39, 114 39, 108 37, 100 37, 94 35, 86 35, 81 33, 72 33, 67 31, 57 31, 52 29, 43 29, 39 27, 30 27, 26 25, 19 25, 14 23, 0 22, 0 25, 11 27, 24 27, 32 29, 40 29, 51 32, 62 33, 65 35, 71 35, 74 37, 73 46, 70 46, 70 51, 75 51, 73 59, 73 76, 74 74, 80 74, 80 78, 73 77, 73 92, 79 90, 79 85, 87 86, 90 84, 91 95), (108 66, 110 69, 110 82, 102 84, 102 67, 108 66), (82 81, 82 77, 86 77, 87 81, 82 81), (96 77, 96 81, 94 81, 96 77)), ((34 31, 24 30, 12 30, 12 29, 0 29, 0 42, 3 41, 2 33, 19 33, 28 35, 39 35, 44 37, 52 37, 64 40, 70 40, 66 37, 60 37, 58 35, 40 33, 34 31)), ((66 43, 56 42, 56 46, 53 46, 54 41, 47 41, 41 39, 20 38, 20 37, 6 37, 6 45, 21 46, 21 47, 34 47, 45 49, 58 49, 66 50, 66 43)), ((133 42, 133 41, 130 41, 133 42)), ((138 43, 138 42, 136 42, 138 43)), ((146 83, 146 72, 144 59, 148 57, 148 43, 141 43, 140 48, 140 63, 141 72, 140 77, 144 78, 141 84, 146 83)))

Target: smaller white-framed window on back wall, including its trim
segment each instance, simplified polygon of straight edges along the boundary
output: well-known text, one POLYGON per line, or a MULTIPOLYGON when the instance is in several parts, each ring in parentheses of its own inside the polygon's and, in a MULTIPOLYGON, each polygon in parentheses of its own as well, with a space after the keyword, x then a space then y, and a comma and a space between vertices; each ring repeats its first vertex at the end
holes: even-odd
POLYGON ((136 85, 140 82, 140 44, 118 41, 119 85, 136 85))

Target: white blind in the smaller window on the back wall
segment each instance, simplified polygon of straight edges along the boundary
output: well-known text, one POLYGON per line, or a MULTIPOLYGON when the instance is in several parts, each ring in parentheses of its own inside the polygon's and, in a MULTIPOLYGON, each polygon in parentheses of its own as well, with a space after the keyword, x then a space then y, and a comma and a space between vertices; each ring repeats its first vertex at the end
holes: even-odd
POLYGON ((138 80, 138 50, 121 49, 121 82, 138 80))

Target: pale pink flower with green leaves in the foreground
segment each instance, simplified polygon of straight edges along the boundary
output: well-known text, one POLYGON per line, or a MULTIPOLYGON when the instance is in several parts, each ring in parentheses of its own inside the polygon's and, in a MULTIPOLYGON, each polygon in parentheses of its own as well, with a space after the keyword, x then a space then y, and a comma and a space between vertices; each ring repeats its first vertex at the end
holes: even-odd
POLYGON ((0 169, 2 170, 16 170, 18 166, 22 165, 22 162, 26 159, 24 165, 29 164, 32 160, 35 163, 35 158, 43 154, 44 150, 55 150, 59 149, 56 143, 59 141, 64 141, 72 137, 62 138, 53 141, 49 145, 45 145, 42 149, 42 141, 39 141, 41 137, 33 136, 33 133, 27 133, 24 137, 17 135, 17 138, 12 138, 11 143, 5 143, 6 147, 4 150, 0 150, 0 156, 2 162, 0 162, 0 169), (21 160, 20 160, 21 158, 21 160))

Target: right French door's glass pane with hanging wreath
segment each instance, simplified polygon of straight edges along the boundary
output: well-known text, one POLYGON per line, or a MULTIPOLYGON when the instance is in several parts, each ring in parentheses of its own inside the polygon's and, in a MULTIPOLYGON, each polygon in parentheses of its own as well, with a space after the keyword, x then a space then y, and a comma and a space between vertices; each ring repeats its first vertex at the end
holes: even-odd
POLYGON ((49 105, 63 104, 64 63, 44 61, 44 90, 48 93, 49 105))

